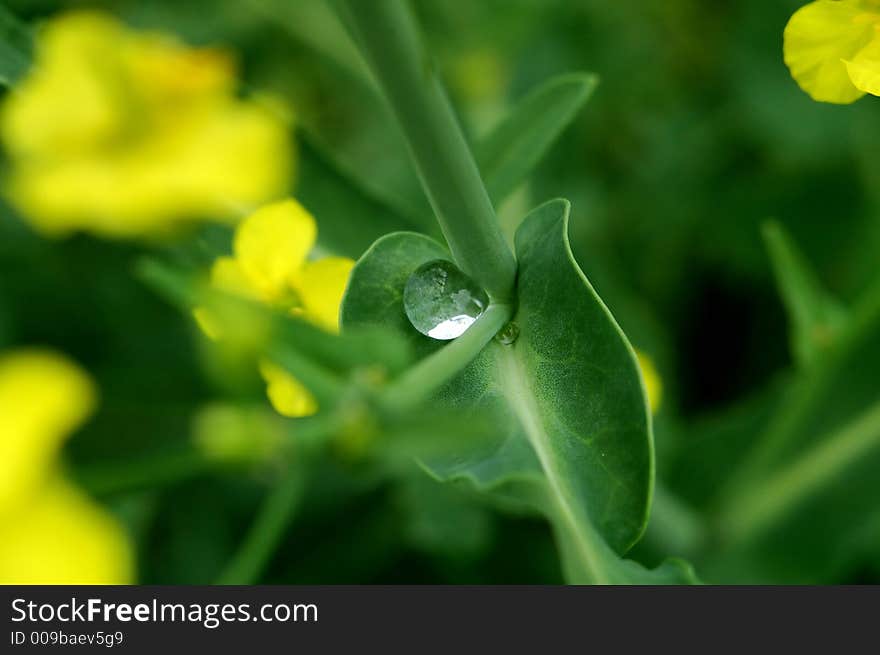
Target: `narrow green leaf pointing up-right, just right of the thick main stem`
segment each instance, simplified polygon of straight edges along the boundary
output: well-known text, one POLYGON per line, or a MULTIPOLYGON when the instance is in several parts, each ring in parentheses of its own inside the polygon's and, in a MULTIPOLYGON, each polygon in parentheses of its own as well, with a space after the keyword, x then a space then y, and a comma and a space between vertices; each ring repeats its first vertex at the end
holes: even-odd
POLYGON ((477 164, 496 206, 541 161, 589 100, 598 80, 592 73, 567 73, 548 80, 476 145, 477 164))

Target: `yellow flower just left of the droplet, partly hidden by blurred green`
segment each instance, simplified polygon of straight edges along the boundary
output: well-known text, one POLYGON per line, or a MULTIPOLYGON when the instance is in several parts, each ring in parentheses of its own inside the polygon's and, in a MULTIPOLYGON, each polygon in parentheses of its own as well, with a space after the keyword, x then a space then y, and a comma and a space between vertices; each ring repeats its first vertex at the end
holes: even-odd
MULTIPOLYGON (((354 262, 346 257, 307 260, 317 238, 315 219, 295 200, 267 205, 238 226, 233 256, 220 257, 211 269, 218 289, 258 300, 303 316, 328 332, 339 330, 339 305, 354 262)), ((212 316, 196 310, 208 336, 221 332, 212 316)), ((267 394, 285 416, 317 411, 314 397, 298 380, 271 361, 260 362, 267 394)))

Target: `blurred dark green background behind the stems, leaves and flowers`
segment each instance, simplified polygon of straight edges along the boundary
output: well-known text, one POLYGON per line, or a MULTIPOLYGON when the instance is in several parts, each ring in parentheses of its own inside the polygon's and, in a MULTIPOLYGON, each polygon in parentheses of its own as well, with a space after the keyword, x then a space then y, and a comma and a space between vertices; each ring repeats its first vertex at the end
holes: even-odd
MULTIPOLYGON (((83 4, 8 2, 28 21, 83 4)), ((248 89, 289 103, 301 154, 294 195, 315 214, 329 247, 356 257, 399 227, 381 203, 424 202, 412 192, 393 122, 322 3, 88 4, 189 43, 228 46, 240 57, 248 89), (321 188, 321 167, 331 162, 377 201, 376 216, 321 188)), ((696 510, 736 455, 705 462, 692 444, 707 432, 726 432, 738 452, 794 368, 762 223, 775 218, 787 228, 844 303, 878 277, 880 105, 822 105, 798 89, 781 43, 800 4, 414 3, 471 135, 485 133, 549 76, 599 74, 593 99, 501 215, 510 228, 545 199, 572 201, 579 263, 663 381, 659 477, 696 510)), ((157 248, 174 246, 83 235, 50 241, 6 206, 0 216, 0 348, 51 346, 80 362, 101 389, 98 414, 67 448, 83 480, 126 470, 117 463, 175 457, 199 408, 234 391, 212 374, 190 318, 134 276, 137 257, 157 248)), ((876 376, 863 383, 876 388, 876 376)), ((259 401, 260 390, 253 397, 259 401)), ((542 521, 490 511, 464 491, 441 491, 415 467, 411 477, 389 482, 357 462, 328 458, 321 466, 326 470, 313 476, 264 582, 562 579, 542 521)), ((273 473, 257 467, 183 477, 107 495, 95 483, 134 536, 141 582, 214 579, 273 473)), ((697 557, 696 564, 713 582, 880 582, 876 535, 858 540, 839 566, 817 567, 809 558, 789 562, 790 570, 767 564, 772 558, 701 570, 697 557)), ((649 532, 633 556, 653 564, 679 554, 667 546, 649 532)))

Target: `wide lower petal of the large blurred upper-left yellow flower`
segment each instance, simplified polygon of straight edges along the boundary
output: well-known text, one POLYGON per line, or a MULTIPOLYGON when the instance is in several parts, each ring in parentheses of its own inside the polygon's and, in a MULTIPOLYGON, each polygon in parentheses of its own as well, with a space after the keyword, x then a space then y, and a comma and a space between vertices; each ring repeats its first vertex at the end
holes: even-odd
POLYGON ((6 194, 50 236, 163 235, 195 218, 231 219, 283 195, 292 157, 280 121, 227 104, 116 150, 16 159, 6 194))

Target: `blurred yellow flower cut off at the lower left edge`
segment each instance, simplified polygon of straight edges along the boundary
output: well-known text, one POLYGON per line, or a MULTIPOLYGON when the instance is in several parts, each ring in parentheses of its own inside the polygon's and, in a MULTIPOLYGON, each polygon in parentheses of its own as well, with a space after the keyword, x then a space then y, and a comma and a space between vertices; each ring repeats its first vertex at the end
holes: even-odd
POLYGON ((62 441, 92 412, 91 381, 42 351, 0 356, 0 584, 125 584, 122 528, 58 471, 62 441))

